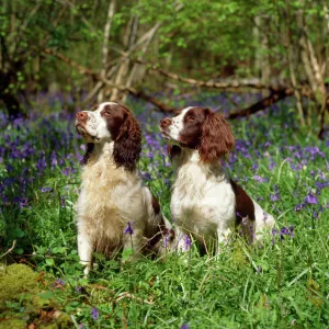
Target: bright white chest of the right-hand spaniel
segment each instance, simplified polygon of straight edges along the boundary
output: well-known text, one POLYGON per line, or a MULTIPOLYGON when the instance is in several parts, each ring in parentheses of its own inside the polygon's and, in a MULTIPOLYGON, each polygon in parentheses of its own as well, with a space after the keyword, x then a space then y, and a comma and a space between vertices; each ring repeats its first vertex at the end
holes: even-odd
POLYGON ((173 186, 174 223, 195 238, 214 236, 234 225, 236 200, 225 173, 207 174, 196 163, 180 168, 173 186))

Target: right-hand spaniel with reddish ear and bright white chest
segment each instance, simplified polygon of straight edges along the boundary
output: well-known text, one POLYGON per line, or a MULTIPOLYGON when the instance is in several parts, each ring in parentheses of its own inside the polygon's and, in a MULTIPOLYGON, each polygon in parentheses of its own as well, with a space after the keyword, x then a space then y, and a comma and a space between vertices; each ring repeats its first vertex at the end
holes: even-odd
POLYGON ((177 169, 170 207, 180 230, 192 235, 207 251, 214 242, 218 250, 238 225, 249 242, 273 226, 274 218, 229 178, 223 166, 235 138, 222 115, 209 109, 186 107, 174 117, 161 120, 160 131, 169 141, 169 157, 177 169))

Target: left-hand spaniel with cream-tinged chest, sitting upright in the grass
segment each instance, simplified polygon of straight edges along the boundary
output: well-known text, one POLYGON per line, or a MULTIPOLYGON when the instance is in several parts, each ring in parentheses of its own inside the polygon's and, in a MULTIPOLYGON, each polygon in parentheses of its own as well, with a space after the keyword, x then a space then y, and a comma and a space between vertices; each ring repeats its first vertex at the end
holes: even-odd
POLYGON ((113 256, 132 248, 136 257, 173 231, 136 169, 141 133, 129 110, 109 102, 76 117, 87 143, 77 203, 78 252, 87 275, 94 250, 113 256))

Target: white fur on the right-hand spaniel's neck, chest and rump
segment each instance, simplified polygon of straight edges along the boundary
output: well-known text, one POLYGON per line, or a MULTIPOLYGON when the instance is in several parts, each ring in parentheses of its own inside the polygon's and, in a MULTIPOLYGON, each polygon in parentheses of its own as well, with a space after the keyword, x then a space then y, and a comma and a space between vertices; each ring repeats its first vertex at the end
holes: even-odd
MULTIPOLYGON (((226 241, 235 229, 236 196, 225 169, 220 164, 202 164, 198 151, 188 148, 182 148, 174 162, 178 168, 170 206, 175 225, 205 246, 226 241)), ((253 204, 256 220, 248 220, 245 228, 252 226, 251 242, 264 227, 274 224, 271 215, 264 220, 262 208, 254 201, 253 204)))

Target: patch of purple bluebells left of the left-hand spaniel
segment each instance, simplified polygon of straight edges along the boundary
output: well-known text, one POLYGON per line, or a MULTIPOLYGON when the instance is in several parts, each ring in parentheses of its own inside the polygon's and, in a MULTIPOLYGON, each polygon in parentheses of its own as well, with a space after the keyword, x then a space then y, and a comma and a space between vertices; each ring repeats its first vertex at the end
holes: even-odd
POLYGON ((81 151, 72 115, 61 112, 39 118, 32 111, 29 118, 10 120, 0 112, 0 166, 7 173, 0 182, 2 204, 21 209, 30 207, 33 189, 39 186, 42 193, 53 192, 42 185, 47 178, 76 173, 81 151))

